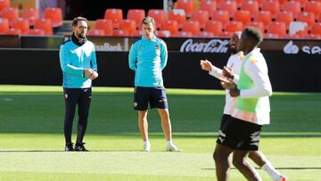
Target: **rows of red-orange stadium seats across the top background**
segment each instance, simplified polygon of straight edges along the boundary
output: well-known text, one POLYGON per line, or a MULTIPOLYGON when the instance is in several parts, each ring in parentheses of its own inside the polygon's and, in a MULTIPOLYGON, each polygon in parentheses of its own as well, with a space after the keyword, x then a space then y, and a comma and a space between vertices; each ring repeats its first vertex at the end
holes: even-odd
MULTIPOLYGON (((42 7, 44 12, 40 12, 33 7, 34 2, 12 2, 0 0, 0 34, 70 34, 70 21, 63 20, 61 8, 42 7)), ((128 9, 126 19, 122 9, 107 8, 103 17, 89 21, 92 29, 88 34, 139 37, 143 33, 141 22, 147 15, 155 19, 160 37, 228 37, 230 32, 246 26, 260 29, 268 38, 320 36, 319 0, 177 0, 173 8, 167 13, 161 9, 128 9), (292 22, 306 22, 307 27, 293 31, 292 22)))

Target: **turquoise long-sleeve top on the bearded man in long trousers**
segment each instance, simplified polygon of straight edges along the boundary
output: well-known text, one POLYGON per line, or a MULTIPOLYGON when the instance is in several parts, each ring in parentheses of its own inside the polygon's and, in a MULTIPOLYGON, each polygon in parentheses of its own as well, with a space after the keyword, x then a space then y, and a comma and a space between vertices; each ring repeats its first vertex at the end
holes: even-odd
POLYGON ((84 70, 97 70, 95 46, 90 41, 86 41, 84 44, 75 41, 75 37, 70 38, 60 47, 62 86, 65 88, 88 88, 92 86, 92 80, 84 76, 84 70))

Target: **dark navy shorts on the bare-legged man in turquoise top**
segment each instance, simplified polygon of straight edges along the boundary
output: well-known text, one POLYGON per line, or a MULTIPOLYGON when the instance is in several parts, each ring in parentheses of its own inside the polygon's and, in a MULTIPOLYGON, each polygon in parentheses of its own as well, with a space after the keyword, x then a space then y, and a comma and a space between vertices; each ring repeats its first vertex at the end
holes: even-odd
POLYGON ((165 87, 144 87, 135 86, 134 90, 134 109, 137 111, 148 110, 150 108, 168 109, 169 105, 166 98, 165 87))

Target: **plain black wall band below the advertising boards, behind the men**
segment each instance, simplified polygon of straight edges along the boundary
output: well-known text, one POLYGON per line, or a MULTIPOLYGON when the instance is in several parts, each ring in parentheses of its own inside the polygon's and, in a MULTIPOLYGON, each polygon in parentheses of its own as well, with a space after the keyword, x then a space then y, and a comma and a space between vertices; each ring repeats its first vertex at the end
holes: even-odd
MULTIPOLYGON (((321 92, 319 54, 263 52, 274 91, 321 92)), ((58 50, 0 49, 0 84, 62 84, 58 50)), ((201 59, 223 67, 227 53, 169 52, 163 71, 166 87, 220 89, 218 80, 200 69, 201 59)), ((134 72, 128 69, 128 52, 97 52, 100 77, 94 86, 133 86, 134 72)))

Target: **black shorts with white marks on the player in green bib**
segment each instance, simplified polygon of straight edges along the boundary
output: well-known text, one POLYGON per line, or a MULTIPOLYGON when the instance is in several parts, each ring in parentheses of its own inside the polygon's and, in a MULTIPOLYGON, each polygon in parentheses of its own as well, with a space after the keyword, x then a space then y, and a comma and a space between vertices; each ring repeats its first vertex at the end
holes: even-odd
POLYGON ((229 117, 221 126, 218 132, 218 144, 225 145, 234 150, 259 150, 261 125, 229 117))

